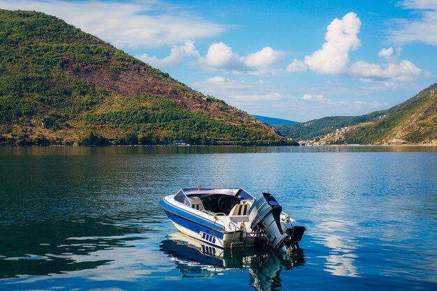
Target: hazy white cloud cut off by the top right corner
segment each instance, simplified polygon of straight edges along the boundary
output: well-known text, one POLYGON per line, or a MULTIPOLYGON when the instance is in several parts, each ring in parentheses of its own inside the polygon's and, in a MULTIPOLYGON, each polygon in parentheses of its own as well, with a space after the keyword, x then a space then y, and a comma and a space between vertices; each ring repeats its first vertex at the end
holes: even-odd
POLYGON ((406 0, 399 5, 415 13, 412 19, 392 20, 388 40, 397 44, 420 42, 437 46, 437 1, 406 0))

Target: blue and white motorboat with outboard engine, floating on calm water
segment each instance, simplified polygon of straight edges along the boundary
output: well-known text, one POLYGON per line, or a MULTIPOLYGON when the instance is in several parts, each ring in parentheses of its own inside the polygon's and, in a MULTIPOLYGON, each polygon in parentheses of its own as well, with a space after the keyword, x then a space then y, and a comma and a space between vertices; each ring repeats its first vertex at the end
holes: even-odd
POLYGON ((182 188, 163 197, 161 205, 177 230, 216 248, 293 252, 306 230, 272 194, 255 198, 242 188, 182 188))

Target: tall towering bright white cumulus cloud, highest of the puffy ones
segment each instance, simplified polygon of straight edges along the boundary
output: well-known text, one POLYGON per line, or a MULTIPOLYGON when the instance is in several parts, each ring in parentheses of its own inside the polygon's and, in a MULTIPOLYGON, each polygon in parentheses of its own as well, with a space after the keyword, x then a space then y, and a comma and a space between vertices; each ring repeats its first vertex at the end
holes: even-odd
POLYGON ((305 57, 306 66, 318 73, 341 73, 348 64, 349 51, 361 45, 357 36, 360 27, 361 21, 353 12, 344 15, 341 20, 334 19, 327 27, 323 47, 305 57))

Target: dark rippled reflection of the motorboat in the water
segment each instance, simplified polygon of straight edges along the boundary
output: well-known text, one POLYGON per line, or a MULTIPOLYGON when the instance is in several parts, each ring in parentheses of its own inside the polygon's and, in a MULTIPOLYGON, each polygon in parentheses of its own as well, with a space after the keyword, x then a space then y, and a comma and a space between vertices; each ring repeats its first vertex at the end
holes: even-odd
POLYGON ((302 248, 294 255, 272 248, 221 249, 187 237, 182 232, 169 234, 160 248, 175 262, 183 277, 210 277, 247 269, 251 276, 250 285, 256 290, 280 288, 281 271, 303 266, 305 262, 302 248))

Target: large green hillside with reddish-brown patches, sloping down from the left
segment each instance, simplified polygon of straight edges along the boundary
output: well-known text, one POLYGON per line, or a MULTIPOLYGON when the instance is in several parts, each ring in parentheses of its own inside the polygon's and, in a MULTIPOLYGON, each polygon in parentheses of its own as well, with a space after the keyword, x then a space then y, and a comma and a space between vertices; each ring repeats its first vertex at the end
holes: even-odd
POLYGON ((0 144, 293 144, 57 17, 0 10, 0 144))

